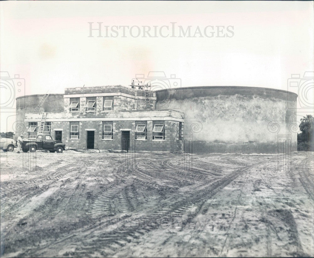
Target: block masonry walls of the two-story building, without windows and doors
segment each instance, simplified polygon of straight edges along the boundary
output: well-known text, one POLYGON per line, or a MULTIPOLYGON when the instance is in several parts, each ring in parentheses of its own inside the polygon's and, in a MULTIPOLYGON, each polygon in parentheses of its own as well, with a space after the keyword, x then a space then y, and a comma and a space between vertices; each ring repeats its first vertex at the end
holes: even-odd
MULTIPOLYGON (((59 97, 59 96, 58 96, 59 97)), ((87 134, 94 133, 95 149, 122 149, 122 133, 129 131, 129 151, 179 151, 179 123, 183 122, 183 113, 176 110, 156 110, 156 94, 122 86, 81 87, 65 90, 62 104, 57 104, 57 112, 47 111, 46 122, 51 124, 51 136, 62 131, 62 142, 74 149, 87 149, 87 134), (71 100, 79 101, 78 110, 70 109, 71 100), (104 99, 113 100, 112 110, 105 110, 104 99), (147 105, 147 98, 150 105, 147 105), (87 110, 88 99, 95 100, 95 110, 87 110), (136 122, 146 124, 146 139, 137 139, 136 122), (153 139, 153 123, 160 121, 164 125, 164 139, 153 139), (78 124, 78 139, 71 139, 70 125, 78 124), (112 138, 103 137, 103 124, 112 125, 112 138)), ((58 100, 59 101, 59 100, 58 100)), ((53 103, 51 103, 53 104, 53 103)), ((56 107, 55 107, 56 108, 56 107)), ((28 136, 30 123, 39 127, 42 113, 32 110, 24 112, 24 135, 28 136)))

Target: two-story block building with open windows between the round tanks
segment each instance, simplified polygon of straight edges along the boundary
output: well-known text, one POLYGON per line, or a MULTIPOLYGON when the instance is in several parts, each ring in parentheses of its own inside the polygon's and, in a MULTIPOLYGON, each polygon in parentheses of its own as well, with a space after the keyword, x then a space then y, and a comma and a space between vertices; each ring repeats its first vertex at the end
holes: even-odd
POLYGON ((66 88, 63 102, 59 99, 55 97, 39 112, 23 114, 26 137, 35 138, 39 131, 46 132, 75 149, 178 151, 182 148, 184 114, 172 109, 156 110, 156 93, 148 89, 66 88))

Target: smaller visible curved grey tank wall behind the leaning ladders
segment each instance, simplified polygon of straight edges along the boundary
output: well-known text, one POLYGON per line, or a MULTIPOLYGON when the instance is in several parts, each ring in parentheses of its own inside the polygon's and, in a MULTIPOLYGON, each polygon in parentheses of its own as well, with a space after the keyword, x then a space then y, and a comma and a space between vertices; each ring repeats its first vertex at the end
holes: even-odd
MULTIPOLYGON (((35 112, 38 103, 44 97, 44 94, 27 95, 16 98, 16 124, 15 131, 19 132, 19 127, 24 125, 25 113, 35 112)), ((46 101, 42 104, 39 113, 42 112, 63 112, 63 94, 49 94, 46 101)))

